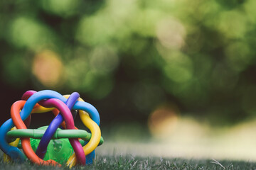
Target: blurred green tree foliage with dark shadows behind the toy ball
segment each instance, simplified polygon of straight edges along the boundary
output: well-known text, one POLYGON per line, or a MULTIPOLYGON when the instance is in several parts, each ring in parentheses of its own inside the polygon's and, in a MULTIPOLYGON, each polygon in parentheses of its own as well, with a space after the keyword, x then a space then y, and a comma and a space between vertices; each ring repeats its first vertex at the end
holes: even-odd
POLYGON ((79 91, 102 118, 162 103, 215 123, 256 112, 256 1, 0 2, 1 84, 79 91))

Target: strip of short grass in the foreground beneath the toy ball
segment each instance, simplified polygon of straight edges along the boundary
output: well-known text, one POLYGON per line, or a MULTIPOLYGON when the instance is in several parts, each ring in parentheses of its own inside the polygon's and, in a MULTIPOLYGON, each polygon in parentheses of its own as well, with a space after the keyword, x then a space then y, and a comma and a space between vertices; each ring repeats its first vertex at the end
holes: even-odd
MULTIPOLYGON (((0 157, 2 160, 2 155, 0 157)), ((9 164, 1 161, 0 169, 7 170, 50 170, 50 169, 66 169, 68 167, 53 167, 53 166, 38 166, 31 164, 31 162, 25 162, 18 164, 11 162, 9 164)), ((216 161, 210 160, 196 160, 196 159, 163 159, 156 157, 132 157, 132 156, 97 156, 95 164, 90 166, 75 166, 73 169, 183 169, 183 170, 206 170, 206 169, 220 169, 220 170, 233 170, 233 169, 256 169, 256 162, 235 162, 235 161, 216 161)))

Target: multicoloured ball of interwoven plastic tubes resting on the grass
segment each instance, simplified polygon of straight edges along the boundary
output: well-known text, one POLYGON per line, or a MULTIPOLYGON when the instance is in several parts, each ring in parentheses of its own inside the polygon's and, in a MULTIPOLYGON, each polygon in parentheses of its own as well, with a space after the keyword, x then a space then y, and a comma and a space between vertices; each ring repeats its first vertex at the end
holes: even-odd
POLYGON ((100 115, 77 92, 62 96, 58 92, 26 91, 21 101, 11 106, 11 119, 0 128, 0 149, 4 162, 24 162, 70 168, 75 164, 92 164, 95 148, 102 145, 100 115), (53 112, 50 125, 28 129, 31 113, 53 112), (78 130, 74 124, 76 113, 90 132, 78 130), (21 142, 20 142, 21 139, 21 142), (21 150, 23 152, 21 152, 21 150))

